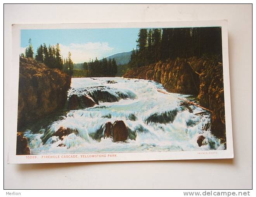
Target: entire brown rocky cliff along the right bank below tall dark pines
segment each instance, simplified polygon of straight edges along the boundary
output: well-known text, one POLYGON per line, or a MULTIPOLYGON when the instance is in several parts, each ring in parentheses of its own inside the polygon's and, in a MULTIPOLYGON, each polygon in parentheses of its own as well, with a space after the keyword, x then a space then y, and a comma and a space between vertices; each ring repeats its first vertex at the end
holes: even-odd
POLYGON ((225 138, 223 67, 220 57, 176 58, 128 71, 125 78, 154 80, 173 93, 194 95, 212 110, 211 132, 225 138))

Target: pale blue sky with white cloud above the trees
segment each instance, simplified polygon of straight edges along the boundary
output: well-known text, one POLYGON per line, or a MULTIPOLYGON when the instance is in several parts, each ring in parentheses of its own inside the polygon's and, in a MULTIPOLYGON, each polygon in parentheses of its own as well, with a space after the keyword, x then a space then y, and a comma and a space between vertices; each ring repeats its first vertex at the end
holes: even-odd
POLYGON ((83 63, 90 58, 102 59, 135 49, 138 31, 138 28, 26 29, 21 30, 21 53, 24 53, 31 38, 34 52, 40 44, 59 43, 63 57, 70 51, 74 63, 83 63))

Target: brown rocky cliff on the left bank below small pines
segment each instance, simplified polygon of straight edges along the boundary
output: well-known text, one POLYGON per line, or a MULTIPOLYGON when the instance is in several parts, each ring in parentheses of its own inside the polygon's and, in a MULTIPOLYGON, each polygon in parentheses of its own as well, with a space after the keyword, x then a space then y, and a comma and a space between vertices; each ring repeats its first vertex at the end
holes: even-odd
POLYGON ((63 109, 71 83, 69 75, 32 58, 20 58, 19 64, 18 131, 63 109))

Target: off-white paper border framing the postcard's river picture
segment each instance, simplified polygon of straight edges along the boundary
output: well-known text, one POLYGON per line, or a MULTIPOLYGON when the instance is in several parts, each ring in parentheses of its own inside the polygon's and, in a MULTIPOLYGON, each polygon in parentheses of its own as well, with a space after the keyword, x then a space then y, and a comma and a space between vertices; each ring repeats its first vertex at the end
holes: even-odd
POLYGON ((15 95, 11 98, 14 117, 9 134, 8 163, 64 163, 64 162, 99 162, 99 161, 149 161, 149 160, 193 160, 193 159, 224 159, 234 158, 232 139, 232 118, 230 102, 230 80, 228 64, 228 31, 227 20, 218 21, 185 21, 185 22, 131 22, 131 23, 84 23, 84 24, 13 24, 12 25, 12 90, 15 95), (221 27, 223 79, 226 123, 226 150, 209 151, 171 151, 171 152, 139 152, 139 153, 85 153, 85 154, 49 154, 49 155, 16 155, 17 138, 17 106, 19 80, 19 48, 21 29, 92 29, 92 28, 161 28, 161 27, 221 27), (71 158, 71 155, 75 156, 71 158), (93 156, 94 155, 94 156, 93 156), (104 156, 105 155, 105 156, 104 156), (109 155, 112 155, 111 157, 109 155), (36 158, 32 158, 32 157, 36 158), (45 158, 49 156, 52 158, 45 158), (54 157, 54 158, 53 158, 54 157))

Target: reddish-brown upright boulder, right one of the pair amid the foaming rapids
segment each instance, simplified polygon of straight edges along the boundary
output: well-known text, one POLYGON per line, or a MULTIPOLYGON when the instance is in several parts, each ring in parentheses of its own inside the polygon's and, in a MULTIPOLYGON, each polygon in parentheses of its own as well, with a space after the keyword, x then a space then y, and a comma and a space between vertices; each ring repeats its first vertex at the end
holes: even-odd
POLYGON ((113 142, 125 141, 128 138, 128 129, 123 121, 115 121, 112 127, 113 142))

